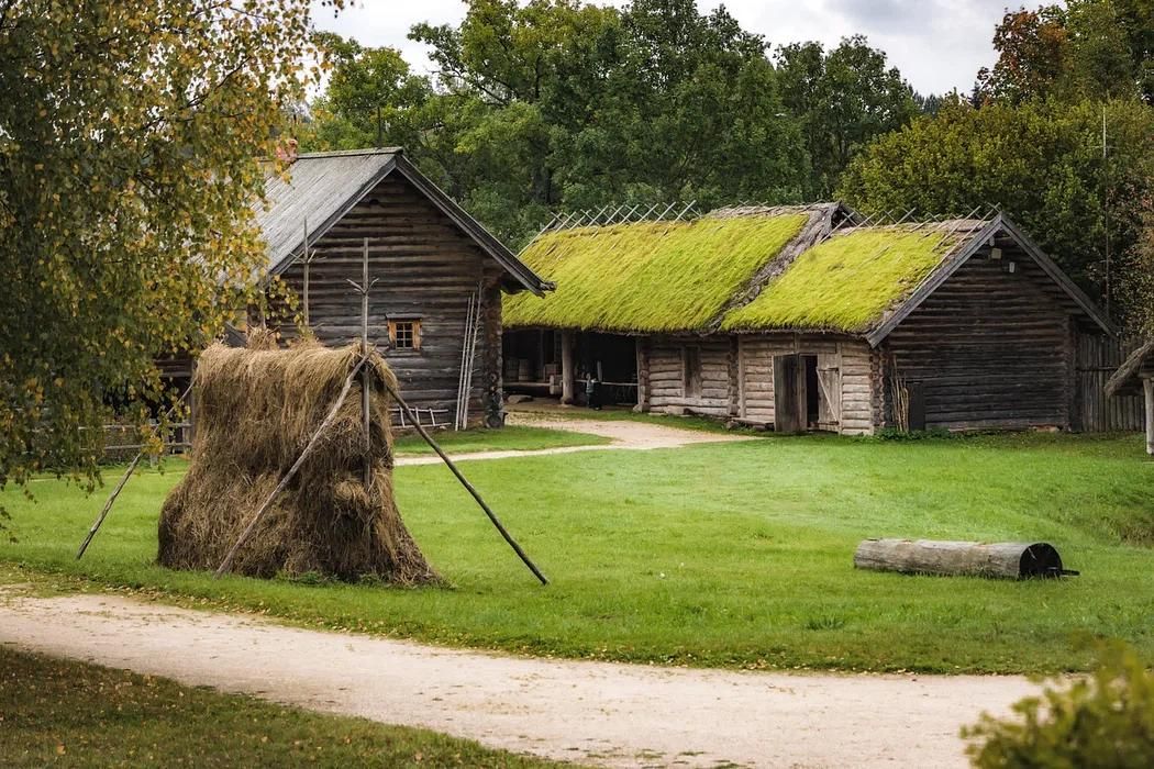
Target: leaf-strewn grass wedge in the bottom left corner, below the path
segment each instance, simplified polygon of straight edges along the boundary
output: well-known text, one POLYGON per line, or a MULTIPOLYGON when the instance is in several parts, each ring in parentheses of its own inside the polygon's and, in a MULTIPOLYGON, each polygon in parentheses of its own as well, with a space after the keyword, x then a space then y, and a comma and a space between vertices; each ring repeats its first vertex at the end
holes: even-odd
POLYGON ((6 647, 0 756, 5 767, 563 766, 6 647))

